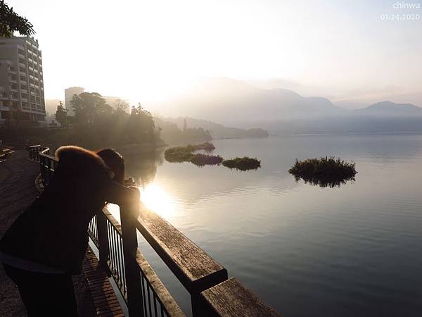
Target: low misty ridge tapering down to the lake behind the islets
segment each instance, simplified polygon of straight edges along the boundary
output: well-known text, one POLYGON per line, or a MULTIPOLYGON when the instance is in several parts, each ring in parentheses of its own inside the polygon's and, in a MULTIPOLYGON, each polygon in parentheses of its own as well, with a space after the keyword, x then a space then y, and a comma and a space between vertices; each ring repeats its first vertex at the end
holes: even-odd
POLYGON ((190 117, 179 117, 179 118, 162 118, 167 122, 175 123, 179 128, 184 127, 186 119, 187 128, 203 128, 210 132, 214 139, 238 139, 243 137, 268 137, 268 132, 261 128, 252 129, 240 129, 240 128, 229 128, 219 123, 212 122, 210 120, 200 120, 190 117))

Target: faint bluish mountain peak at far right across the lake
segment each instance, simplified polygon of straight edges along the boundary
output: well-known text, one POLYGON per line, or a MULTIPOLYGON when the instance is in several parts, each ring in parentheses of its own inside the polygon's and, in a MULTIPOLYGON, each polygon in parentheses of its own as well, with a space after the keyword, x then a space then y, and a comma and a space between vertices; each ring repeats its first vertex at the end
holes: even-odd
POLYGON ((352 111, 355 116, 377 118, 414 118, 422 116, 422 108, 414 104, 395 104, 392 101, 381 101, 366 108, 352 111))

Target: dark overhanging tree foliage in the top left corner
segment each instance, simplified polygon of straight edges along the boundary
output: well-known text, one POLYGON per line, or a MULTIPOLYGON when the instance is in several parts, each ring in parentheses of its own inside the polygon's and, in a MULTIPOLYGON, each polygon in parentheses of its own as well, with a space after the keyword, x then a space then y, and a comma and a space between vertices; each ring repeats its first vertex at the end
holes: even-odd
POLYGON ((27 18, 18 15, 4 0, 0 0, 0 37, 12 37, 13 32, 29 37, 35 33, 32 27, 27 18))

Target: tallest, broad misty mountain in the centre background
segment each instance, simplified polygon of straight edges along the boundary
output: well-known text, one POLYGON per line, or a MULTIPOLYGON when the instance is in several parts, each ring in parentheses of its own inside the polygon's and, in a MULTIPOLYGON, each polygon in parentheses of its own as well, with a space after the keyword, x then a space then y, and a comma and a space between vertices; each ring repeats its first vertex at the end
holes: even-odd
POLYGON ((324 97, 302 97, 289 89, 262 89, 240 80, 203 80, 190 92, 157 105, 167 116, 204 118, 224 125, 338 116, 347 111, 324 97))

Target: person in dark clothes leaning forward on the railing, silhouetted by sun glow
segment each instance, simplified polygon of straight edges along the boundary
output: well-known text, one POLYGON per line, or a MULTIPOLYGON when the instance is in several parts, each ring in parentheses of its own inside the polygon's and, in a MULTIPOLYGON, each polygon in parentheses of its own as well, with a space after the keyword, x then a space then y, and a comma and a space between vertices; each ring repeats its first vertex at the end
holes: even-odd
POLYGON ((51 182, 0 241, 4 269, 30 317, 77 316, 72 275, 82 271, 89 221, 105 201, 139 202, 137 189, 120 184, 123 160, 110 151, 60 147, 51 182))

